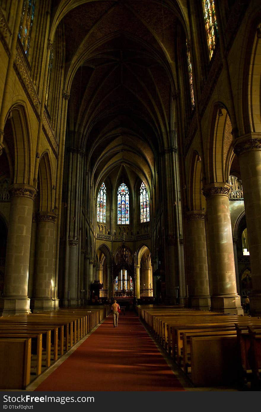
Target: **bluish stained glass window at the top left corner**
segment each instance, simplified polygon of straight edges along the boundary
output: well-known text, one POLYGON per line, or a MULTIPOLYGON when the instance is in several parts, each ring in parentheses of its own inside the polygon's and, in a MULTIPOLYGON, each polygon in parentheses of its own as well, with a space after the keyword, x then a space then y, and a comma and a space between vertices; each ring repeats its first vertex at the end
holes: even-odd
POLYGON ((35 14, 35 1, 36 0, 24 0, 22 7, 18 37, 24 47, 25 54, 28 54, 30 48, 31 30, 35 14))

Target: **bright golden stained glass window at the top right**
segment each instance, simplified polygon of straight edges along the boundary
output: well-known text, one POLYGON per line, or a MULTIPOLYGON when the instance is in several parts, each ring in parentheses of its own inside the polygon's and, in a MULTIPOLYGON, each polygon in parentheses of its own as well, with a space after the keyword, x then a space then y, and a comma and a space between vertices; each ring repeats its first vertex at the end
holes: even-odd
POLYGON ((202 4, 204 10, 205 27, 207 32, 207 41, 209 46, 209 56, 211 59, 218 37, 215 3, 214 0, 203 0, 202 4))

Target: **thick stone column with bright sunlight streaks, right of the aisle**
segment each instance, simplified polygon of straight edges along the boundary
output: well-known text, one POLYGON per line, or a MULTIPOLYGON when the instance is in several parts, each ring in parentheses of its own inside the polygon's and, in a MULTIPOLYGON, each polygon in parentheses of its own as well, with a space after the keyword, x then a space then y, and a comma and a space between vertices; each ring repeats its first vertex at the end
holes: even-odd
POLYGON ((211 310, 230 314, 243 314, 237 294, 233 238, 229 210, 227 183, 213 183, 203 188, 207 200, 209 251, 211 260, 211 310))

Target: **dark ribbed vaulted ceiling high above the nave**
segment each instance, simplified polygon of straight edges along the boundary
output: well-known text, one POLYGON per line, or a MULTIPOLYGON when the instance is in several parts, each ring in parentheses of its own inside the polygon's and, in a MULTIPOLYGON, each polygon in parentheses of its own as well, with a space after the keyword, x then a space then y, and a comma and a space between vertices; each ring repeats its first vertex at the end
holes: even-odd
POLYGON ((67 144, 85 150, 94 182, 125 174, 150 187, 173 129, 186 1, 52 4, 52 27, 65 38, 67 144))

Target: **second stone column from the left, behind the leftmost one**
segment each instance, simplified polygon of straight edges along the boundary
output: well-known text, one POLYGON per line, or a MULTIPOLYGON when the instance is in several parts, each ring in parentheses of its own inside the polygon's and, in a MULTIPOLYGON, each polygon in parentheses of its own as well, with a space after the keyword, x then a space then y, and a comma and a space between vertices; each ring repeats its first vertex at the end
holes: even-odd
POLYGON ((52 269, 54 249, 54 224, 56 214, 51 212, 38 212, 37 237, 35 250, 35 275, 33 286, 33 299, 31 309, 43 311, 54 309, 52 299, 52 269))

